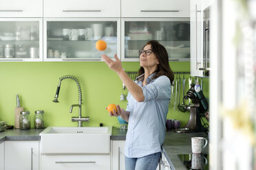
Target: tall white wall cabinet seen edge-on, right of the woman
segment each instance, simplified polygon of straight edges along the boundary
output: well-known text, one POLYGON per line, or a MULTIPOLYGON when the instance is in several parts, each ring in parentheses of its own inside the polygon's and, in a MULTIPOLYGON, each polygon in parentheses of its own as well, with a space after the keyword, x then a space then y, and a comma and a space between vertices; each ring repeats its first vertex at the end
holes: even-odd
POLYGON ((191 0, 191 76, 209 76, 207 72, 209 71, 209 30, 211 30, 209 7, 211 4, 211 0, 191 0))

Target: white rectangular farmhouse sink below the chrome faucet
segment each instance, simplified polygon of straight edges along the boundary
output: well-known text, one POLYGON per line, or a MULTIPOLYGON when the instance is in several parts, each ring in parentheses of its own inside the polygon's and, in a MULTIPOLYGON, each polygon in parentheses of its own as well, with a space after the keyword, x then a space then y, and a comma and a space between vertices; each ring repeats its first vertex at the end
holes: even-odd
POLYGON ((47 127, 41 154, 110 154, 112 127, 47 127))

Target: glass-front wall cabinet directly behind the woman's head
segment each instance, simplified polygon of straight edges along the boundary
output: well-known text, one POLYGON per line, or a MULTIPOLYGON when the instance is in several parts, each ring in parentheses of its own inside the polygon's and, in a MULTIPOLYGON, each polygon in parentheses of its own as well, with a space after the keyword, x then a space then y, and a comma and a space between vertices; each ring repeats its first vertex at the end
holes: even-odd
POLYGON ((121 24, 123 61, 138 61, 138 51, 152 39, 164 45, 169 61, 190 60, 189 18, 125 18, 121 24))

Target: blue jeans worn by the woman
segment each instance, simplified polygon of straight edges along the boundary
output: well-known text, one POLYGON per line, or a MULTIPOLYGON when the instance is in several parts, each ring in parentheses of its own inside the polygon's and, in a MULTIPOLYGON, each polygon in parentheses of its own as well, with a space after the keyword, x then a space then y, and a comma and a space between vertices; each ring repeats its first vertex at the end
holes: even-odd
POLYGON ((141 158, 127 158, 125 156, 125 170, 156 170, 160 156, 161 152, 141 158))

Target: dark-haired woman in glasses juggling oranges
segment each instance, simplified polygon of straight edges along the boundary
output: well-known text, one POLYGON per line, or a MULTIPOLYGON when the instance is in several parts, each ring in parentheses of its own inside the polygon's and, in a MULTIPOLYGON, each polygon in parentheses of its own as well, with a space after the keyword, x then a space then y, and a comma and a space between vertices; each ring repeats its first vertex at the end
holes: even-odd
POLYGON ((127 109, 109 114, 129 122, 125 141, 126 170, 156 170, 165 136, 165 122, 171 97, 173 71, 167 50, 156 40, 150 40, 139 51, 140 69, 136 82, 122 69, 121 61, 106 55, 103 60, 116 71, 129 90, 127 109))

